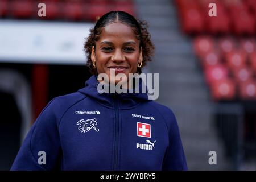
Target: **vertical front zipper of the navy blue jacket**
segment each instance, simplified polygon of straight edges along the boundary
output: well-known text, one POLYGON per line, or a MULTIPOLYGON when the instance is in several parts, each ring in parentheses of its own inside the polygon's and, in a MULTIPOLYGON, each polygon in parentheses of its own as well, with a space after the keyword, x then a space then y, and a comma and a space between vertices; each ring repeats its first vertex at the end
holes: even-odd
POLYGON ((116 171, 118 168, 118 141, 119 141, 119 106, 117 96, 113 96, 114 110, 115 110, 115 139, 114 139, 114 167, 116 171))

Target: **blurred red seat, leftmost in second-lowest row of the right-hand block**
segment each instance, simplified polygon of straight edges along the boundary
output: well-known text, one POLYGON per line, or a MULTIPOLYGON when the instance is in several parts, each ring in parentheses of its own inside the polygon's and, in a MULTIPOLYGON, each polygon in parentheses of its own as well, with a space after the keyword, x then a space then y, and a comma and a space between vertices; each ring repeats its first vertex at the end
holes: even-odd
POLYGON ((228 69, 222 64, 206 67, 204 71, 205 80, 210 83, 213 81, 225 80, 228 78, 228 69))

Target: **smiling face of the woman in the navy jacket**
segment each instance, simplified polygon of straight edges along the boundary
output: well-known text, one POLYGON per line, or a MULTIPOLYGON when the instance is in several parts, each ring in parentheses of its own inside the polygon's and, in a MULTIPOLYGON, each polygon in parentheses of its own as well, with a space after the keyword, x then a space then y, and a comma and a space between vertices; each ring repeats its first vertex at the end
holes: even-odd
POLYGON ((139 43, 131 27, 120 22, 108 24, 95 43, 96 47, 92 48, 91 59, 95 61, 98 74, 106 73, 110 79, 110 69, 115 75, 124 73, 127 78, 129 73, 135 73, 138 63, 142 62, 139 43))

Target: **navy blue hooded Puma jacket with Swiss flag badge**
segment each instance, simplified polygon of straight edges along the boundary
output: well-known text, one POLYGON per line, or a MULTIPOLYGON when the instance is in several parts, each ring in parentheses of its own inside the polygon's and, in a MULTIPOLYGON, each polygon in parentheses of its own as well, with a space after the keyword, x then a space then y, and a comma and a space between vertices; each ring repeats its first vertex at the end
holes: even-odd
POLYGON ((49 102, 11 170, 187 170, 170 109, 146 93, 100 94, 97 85, 92 76, 49 102))

